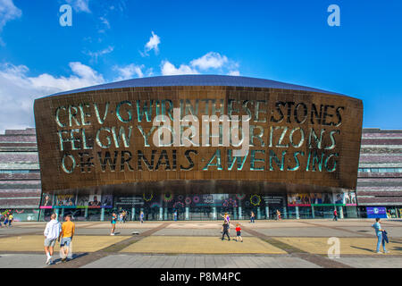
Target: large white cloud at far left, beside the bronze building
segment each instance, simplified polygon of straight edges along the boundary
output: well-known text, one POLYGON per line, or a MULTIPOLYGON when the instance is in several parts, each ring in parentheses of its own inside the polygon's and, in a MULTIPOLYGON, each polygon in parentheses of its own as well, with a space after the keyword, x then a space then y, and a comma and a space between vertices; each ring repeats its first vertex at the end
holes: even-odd
POLYGON ((29 68, 25 65, 0 65, 0 132, 33 127, 35 98, 105 82, 103 76, 88 65, 79 62, 69 65, 72 72, 68 77, 55 77, 48 73, 29 77, 29 68))

